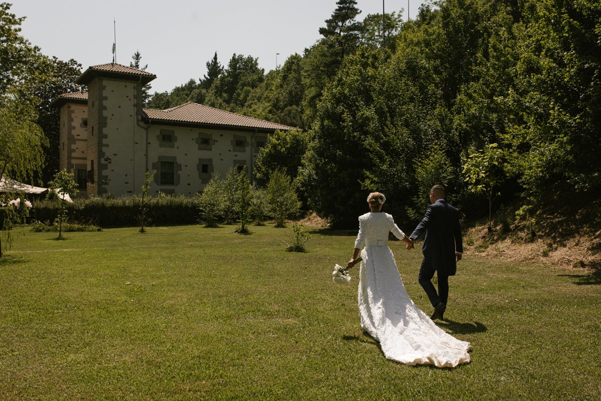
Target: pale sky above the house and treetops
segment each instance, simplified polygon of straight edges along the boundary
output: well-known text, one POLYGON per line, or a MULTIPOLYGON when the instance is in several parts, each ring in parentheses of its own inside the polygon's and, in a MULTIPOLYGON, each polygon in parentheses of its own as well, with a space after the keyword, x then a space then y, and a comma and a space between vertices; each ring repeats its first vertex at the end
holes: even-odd
MULTIPOLYGON (((20 32, 41 52, 71 58, 82 70, 111 63, 116 33, 117 63, 141 66, 157 76, 150 93, 171 91, 207 73, 217 52, 227 66, 233 54, 258 58, 265 72, 319 38, 337 0, 8 0, 10 13, 25 16, 20 32), (279 53, 279 55, 277 55, 279 53)), ((426 0, 357 0, 358 20, 368 14, 401 13, 415 19, 426 0)))

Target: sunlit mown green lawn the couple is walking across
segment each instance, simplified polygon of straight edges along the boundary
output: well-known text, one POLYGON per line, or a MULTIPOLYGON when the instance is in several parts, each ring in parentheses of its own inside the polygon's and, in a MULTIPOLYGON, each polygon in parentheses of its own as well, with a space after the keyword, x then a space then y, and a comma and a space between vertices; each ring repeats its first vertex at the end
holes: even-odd
MULTIPOLYGON (((599 280, 467 254, 446 322, 456 369, 386 360, 361 331, 351 233, 198 225, 25 231, 0 260, 4 400, 595 400, 599 280)), ((18 231, 18 230, 17 230, 18 231)), ((17 232, 13 233, 17 234, 17 232)), ((409 295, 421 253, 391 243, 409 295)))

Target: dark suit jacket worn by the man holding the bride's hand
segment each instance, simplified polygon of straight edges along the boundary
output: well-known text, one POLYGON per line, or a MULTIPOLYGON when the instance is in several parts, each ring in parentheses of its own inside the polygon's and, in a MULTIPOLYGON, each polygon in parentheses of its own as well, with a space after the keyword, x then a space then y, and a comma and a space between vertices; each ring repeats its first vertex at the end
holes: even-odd
POLYGON ((415 227, 410 239, 416 239, 424 230, 424 259, 439 273, 454 275, 457 272, 455 253, 463 253, 459 211, 444 199, 437 200, 428 206, 426 215, 415 227))

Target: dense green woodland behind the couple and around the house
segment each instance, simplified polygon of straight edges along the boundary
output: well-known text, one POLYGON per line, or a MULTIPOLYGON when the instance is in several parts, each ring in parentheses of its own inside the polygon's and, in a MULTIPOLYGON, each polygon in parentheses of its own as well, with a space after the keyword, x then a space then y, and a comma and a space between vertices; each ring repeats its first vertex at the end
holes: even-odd
MULTIPOLYGON (((415 221, 436 183, 468 218, 504 204, 533 218, 558 197, 599 198, 599 1, 441 0, 415 20, 359 20, 354 0, 332 0, 332 10, 316 26, 322 37, 281 67, 266 73, 241 54, 222 65, 215 53, 203 78, 165 93, 147 88, 147 106, 192 101, 298 127, 270 138, 256 182, 285 170, 305 207, 334 225, 355 227, 373 190, 399 221, 415 221)), ((41 55, 20 37, 21 20, 2 3, 1 118, 41 127, 47 168, 19 170, 17 153, 2 148, 4 127, 0 162, 12 158, 4 165, 17 179, 45 182, 43 171, 58 168, 49 104, 79 90, 81 65, 41 55)))

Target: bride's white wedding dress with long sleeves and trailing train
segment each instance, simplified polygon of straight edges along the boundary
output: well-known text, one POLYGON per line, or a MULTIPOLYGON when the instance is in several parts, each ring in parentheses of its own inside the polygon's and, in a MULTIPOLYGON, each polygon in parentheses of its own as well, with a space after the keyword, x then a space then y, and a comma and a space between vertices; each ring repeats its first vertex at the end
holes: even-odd
POLYGON ((391 215, 370 212, 359 217, 355 248, 365 243, 359 270, 361 327, 379 341, 389 360, 437 367, 468 363, 471 344, 436 326, 407 295, 388 248, 389 232, 404 237, 391 215))

